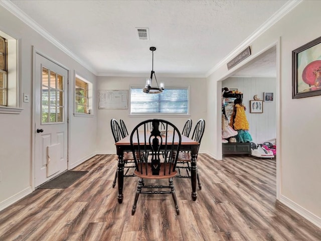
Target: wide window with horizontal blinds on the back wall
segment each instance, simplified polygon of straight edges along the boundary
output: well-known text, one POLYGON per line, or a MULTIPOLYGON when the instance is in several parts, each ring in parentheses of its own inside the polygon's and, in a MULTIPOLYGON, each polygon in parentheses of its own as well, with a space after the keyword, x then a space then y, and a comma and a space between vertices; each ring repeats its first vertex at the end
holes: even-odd
POLYGON ((166 88, 163 93, 146 94, 141 88, 131 88, 130 113, 189 113, 189 88, 166 88))

